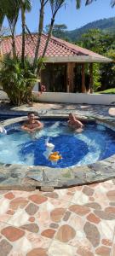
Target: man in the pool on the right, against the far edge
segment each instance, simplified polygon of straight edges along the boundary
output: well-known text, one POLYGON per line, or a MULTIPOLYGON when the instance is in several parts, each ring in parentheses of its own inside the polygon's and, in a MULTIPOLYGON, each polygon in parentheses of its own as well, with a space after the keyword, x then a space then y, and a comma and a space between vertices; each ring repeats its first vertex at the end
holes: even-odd
POLYGON ((82 122, 80 122, 72 113, 69 113, 68 125, 78 132, 83 131, 82 122))

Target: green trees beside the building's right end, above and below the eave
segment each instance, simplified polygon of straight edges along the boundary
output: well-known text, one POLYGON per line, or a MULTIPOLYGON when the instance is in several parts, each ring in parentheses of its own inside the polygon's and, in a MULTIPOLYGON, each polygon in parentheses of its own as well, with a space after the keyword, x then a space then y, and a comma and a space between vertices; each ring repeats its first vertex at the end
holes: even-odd
MULTIPOLYGON (((89 29, 84 33, 81 40, 77 42, 86 49, 105 55, 115 61, 115 35, 101 32, 99 29, 89 29)), ((115 65, 113 62, 107 64, 94 64, 94 90, 112 88, 115 86, 115 65)))

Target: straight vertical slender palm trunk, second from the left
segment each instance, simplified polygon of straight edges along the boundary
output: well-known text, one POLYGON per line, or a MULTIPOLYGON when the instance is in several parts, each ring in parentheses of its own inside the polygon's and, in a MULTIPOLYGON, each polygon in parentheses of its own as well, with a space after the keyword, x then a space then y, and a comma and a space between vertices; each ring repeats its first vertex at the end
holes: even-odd
POLYGON ((22 26, 22 49, 21 49, 21 64, 25 67, 25 27, 26 27, 26 15, 25 9, 21 7, 21 26, 22 26))

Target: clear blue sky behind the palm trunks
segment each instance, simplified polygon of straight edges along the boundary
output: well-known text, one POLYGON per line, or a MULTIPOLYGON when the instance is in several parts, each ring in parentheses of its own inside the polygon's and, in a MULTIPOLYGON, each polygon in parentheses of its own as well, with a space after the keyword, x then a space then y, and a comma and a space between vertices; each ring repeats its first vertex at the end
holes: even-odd
MULTIPOLYGON (((67 30, 74 30, 89 22, 101 20, 104 18, 115 17, 115 7, 110 6, 111 0, 95 0, 93 3, 85 6, 85 0, 82 0, 81 9, 76 9, 75 0, 66 0, 66 6, 63 6, 55 17, 55 24, 66 24, 67 30)), ((50 22, 50 8, 46 6, 44 12, 44 29, 50 22)), ((26 24, 31 32, 37 32, 37 20, 39 16, 39 0, 32 0, 32 12, 26 13, 26 24)), ((4 26, 8 26, 4 20, 4 26)), ((20 18, 16 26, 16 34, 20 34, 20 18)))

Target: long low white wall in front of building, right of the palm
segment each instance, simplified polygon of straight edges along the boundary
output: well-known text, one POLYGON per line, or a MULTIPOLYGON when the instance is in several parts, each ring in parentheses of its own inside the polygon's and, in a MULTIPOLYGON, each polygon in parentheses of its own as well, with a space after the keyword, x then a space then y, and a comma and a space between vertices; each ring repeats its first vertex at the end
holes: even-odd
POLYGON ((64 93, 64 92, 38 92, 33 91, 39 102, 65 102, 65 103, 87 103, 87 104, 115 104, 115 95, 112 94, 87 94, 87 93, 64 93))

